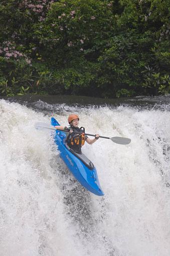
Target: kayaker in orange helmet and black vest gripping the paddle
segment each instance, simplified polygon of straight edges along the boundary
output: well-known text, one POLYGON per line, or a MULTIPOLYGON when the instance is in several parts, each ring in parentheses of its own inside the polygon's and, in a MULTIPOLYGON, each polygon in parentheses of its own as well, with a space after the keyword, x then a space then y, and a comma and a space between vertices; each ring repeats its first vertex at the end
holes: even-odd
POLYGON ((91 145, 99 139, 99 134, 96 134, 94 139, 89 139, 85 135, 84 127, 80 127, 80 128, 78 127, 79 126, 79 116, 77 114, 70 114, 68 117, 68 122, 70 124, 69 127, 57 125, 57 126, 55 126, 55 128, 60 131, 63 131, 63 130, 69 131, 69 134, 66 138, 66 142, 67 142, 68 146, 71 149, 73 149, 76 153, 81 154, 81 147, 84 145, 85 141, 91 145), (81 134, 76 134, 73 132, 78 132, 81 134))

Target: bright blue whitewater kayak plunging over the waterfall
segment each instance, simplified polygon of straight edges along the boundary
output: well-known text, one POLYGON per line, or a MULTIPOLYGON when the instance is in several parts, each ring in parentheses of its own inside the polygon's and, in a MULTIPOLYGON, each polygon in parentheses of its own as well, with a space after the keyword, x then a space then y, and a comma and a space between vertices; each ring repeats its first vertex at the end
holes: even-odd
MULTIPOLYGON (((51 124, 53 126, 60 125, 54 117, 51 118, 51 124)), ((54 141, 60 151, 60 157, 83 187, 95 195, 103 196, 104 193, 100 187, 93 163, 84 154, 77 154, 69 148, 65 142, 66 137, 65 132, 56 130, 54 141)))

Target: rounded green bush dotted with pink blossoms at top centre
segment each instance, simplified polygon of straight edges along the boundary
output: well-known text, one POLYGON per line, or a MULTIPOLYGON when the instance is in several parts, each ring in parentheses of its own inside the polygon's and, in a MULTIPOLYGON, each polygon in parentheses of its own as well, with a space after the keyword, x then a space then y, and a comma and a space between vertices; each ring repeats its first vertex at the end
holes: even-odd
POLYGON ((108 39, 114 20, 107 2, 63 0, 54 3, 44 23, 35 26, 35 34, 44 46, 41 54, 57 67, 68 67, 70 60, 82 56, 96 60, 101 42, 108 39))

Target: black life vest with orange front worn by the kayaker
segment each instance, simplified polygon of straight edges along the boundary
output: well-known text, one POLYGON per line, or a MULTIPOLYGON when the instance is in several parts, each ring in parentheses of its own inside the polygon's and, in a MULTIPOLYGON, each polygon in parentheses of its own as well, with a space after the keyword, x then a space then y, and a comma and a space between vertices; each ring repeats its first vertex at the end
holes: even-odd
POLYGON ((70 125, 69 128, 71 128, 73 132, 78 132, 81 134, 69 133, 66 139, 66 142, 68 143, 68 145, 82 147, 86 140, 84 127, 79 128, 79 127, 74 127, 70 125))

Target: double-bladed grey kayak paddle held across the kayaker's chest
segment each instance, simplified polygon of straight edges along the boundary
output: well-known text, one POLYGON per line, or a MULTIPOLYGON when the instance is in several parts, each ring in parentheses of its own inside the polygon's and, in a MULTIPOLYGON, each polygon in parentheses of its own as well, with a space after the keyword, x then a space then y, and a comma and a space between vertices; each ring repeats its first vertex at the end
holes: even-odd
MULTIPOLYGON (((50 124, 44 123, 44 122, 36 122, 35 123, 35 128, 38 129, 38 130, 44 130, 44 129, 57 130, 53 125, 50 125, 50 124)), ((58 131, 61 131, 61 130, 58 130, 58 131)), ((67 131, 67 130, 62 130, 62 132, 69 133, 69 131, 67 131)), ((73 133, 82 134, 82 133, 78 133, 78 132, 73 132, 73 133)), ((86 134, 85 133, 85 135, 95 137, 94 134, 86 134)), ((130 139, 123 138, 123 137, 112 137, 112 138, 110 138, 110 137, 105 137, 105 136, 99 136, 99 138, 109 139, 112 142, 117 143, 117 144, 121 144, 121 145, 127 145, 131 142, 130 139)))

